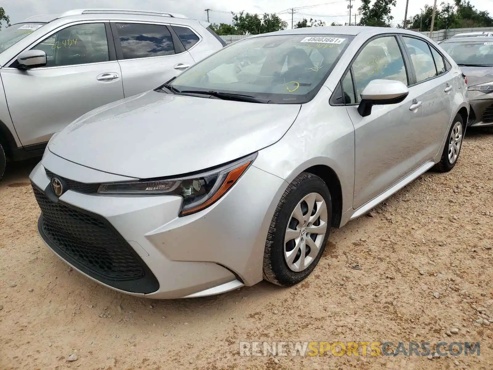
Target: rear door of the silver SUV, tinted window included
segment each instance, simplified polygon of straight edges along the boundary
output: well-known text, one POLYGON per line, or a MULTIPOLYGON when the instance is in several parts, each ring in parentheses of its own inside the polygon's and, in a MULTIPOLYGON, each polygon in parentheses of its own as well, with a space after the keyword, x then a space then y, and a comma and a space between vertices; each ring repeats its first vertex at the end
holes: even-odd
POLYGON ((125 97, 152 90, 194 64, 169 25, 111 23, 125 97))

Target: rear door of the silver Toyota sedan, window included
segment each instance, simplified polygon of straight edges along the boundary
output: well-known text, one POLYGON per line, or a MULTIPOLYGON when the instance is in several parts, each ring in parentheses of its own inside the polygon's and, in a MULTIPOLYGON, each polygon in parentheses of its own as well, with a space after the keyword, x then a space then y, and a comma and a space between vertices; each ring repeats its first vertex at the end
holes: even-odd
POLYGON ((454 107, 454 80, 445 63, 428 42, 418 37, 403 36, 415 76, 414 88, 423 108, 423 120, 416 123, 416 157, 420 164, 440 150, 454 107))

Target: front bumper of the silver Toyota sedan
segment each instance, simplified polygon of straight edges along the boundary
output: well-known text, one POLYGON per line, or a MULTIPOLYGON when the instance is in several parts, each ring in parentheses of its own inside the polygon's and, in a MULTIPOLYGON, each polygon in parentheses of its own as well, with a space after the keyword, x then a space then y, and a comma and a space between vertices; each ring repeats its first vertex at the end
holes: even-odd
POLYGON ((107 196, 69 189, 57 198, 45 167, 85 183, 115 181, 115 175, 107 174, 105 180, 105 173, 48 152, 30 176, 43 211, 40 236, 58 257, 92 280, 149 298, 208 296, 262 280, 267 230, 287 186, 282 179, 251 166, 211 207, 178 217, 177 196, 107 196), (43 226, 53 208, 42 204, 43 197, 63 208, 50 216, 55 222, 51 227, 59 229, 55 237, 43 226), (75 219, 57 216, 67 212, 75 219), (87 227, 93 223, 96 228, 87 227))

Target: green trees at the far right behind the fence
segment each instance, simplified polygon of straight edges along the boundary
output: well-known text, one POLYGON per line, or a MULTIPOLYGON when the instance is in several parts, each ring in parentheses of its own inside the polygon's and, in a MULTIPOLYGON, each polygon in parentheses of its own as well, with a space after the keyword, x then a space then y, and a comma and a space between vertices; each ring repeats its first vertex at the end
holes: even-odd
MULTIPOLYGON (((424 5, 420 14, 407 20, 406 28, 429 31, 432 13, 433 6, 424 5)), ((488 11, 479 11, 465 0, 455 0, 455 5, 442 2, 440 7, 437 6, 433 30, 469 27, 493 27, 493 18, 488 11)))

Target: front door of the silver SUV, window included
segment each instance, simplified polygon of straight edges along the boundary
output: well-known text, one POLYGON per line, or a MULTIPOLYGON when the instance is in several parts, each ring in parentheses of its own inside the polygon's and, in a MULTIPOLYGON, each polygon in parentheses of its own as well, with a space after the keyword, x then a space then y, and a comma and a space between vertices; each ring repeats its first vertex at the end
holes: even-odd
POLYGON ((14 63, 0 70, 23 146, 45 143, 82 114, 124 97, 120 66, 110 60, 115 58, 109 57, 104 23, 67 27, 31 49, 46 52, 45 67, 21 71, 14 63))

